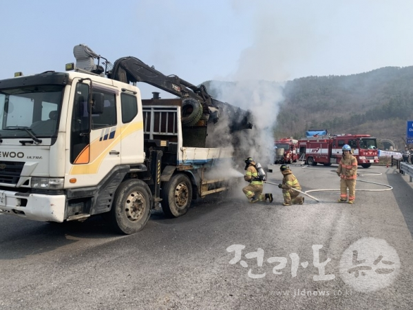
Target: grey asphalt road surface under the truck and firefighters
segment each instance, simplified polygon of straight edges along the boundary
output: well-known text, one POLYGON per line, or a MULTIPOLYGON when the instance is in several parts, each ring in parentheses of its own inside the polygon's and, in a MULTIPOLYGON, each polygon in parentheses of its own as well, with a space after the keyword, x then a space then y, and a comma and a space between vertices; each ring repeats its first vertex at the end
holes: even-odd
MULTIPOLYGON (((335 167, 313 168, 292 166, 303 191, 323 189, 308 193, 319 203, 284 207, 266 184, 271 204, 250 204, 239 189, 181 218, 153 212, 133 236, 100 217, 56 225, 0 215, 0 309, 412 309, 408 177, 359 168, 349 205, 337 203, 335 167)), ((275 169, 268 181, 280 180, 275 169)))

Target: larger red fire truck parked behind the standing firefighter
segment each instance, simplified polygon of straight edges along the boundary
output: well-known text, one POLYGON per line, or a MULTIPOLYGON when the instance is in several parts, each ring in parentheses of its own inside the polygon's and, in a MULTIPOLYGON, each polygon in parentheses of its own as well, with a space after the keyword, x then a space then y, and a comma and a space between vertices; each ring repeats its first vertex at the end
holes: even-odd
POLYGON ((307 165, 338 164, 342 147, 345 144, 350 145, 352 154, 357 158, 361 167, 368 168, 372 163, 379 163, 377 138, 370 134, 307 136, 307 138, 299 139, 298 144, 300 158, 305 158, 307 165))

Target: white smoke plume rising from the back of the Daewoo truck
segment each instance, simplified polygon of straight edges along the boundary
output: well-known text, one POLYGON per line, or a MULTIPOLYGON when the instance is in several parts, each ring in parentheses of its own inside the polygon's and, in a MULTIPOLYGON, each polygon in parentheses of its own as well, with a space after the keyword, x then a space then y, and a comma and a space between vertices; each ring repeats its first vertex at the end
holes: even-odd
MULTIPOLYGON (((302 28, 297 28, 297 21, 286 21, 273 1, 232 3, 235 14, 242 16, 243 12, 248 11, 254 15, 252 43, 240 52, 236 70, 218 78, 229 82, 212 82, 210 92, 217 94, 220 101, 253 113, 253 130, 235 133, 235 147, 242 148, 246 156, 252 156, 266 167, 274 159, 273 131, 279 103, 284 99, 284 81, 289 77, 291 62, 288 59, 297 59, 297 54, 306 54, 299 46, 305 46, 308 39, 299 35, 298 30, 302 28), (281 31, 284 25, 290 26, 290 37, 286 37, 286 32, 281 31)), ((218 122, 215 133, 211 132, 211 135, 221 140, 228 138, 229 131, 225 130, 225 125, 224 122, 218 122)))

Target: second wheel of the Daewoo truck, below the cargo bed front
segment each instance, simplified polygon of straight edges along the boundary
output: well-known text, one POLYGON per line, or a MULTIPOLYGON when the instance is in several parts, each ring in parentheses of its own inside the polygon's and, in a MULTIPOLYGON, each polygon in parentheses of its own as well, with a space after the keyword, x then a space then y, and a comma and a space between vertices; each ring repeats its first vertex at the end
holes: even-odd
POLYGON ((162 187, 162 210, 170 218, 187 213, 192 200, 191 181, 184 174, 176 174, 162 187))

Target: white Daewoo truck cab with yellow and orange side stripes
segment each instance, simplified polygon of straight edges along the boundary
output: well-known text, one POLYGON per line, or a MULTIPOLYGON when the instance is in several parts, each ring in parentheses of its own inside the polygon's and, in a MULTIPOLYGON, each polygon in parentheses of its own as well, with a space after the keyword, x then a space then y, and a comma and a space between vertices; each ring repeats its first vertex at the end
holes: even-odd
POLYGON ((125 165, 145 169, 140 92, 80 72, 0 84, 0 211, 63 222, 110 209, 125 165))

